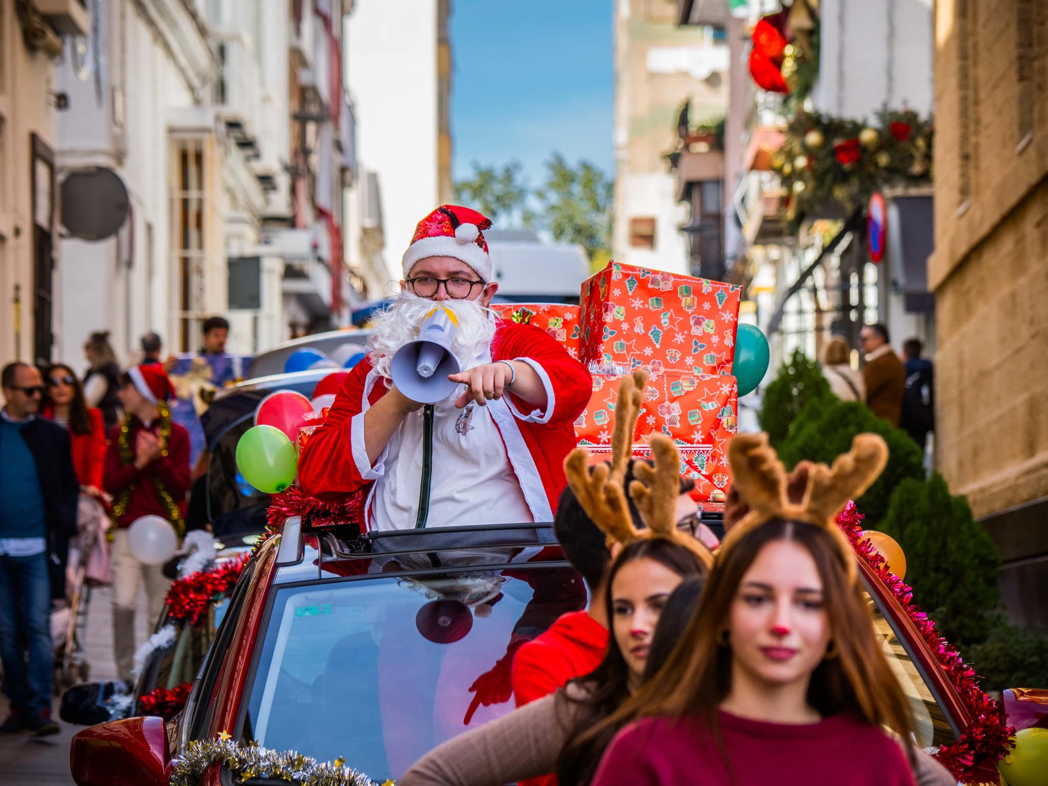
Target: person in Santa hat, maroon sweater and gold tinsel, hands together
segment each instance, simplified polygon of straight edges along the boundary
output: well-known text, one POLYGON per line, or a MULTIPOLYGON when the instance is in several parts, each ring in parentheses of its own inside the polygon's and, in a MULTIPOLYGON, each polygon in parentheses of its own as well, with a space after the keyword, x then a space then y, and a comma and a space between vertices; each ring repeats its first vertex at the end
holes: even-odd
POLYGON ((128 527, 143 516, 159 516, 182 529, 190 487, 190 434, 171 422, 168 401, 175 395, 160 366, 132 366, 121 379, 124 421, 109 435, 105 489, 114 498, 113 652, 121 679, 130 681, 134 659, 134 612, 145 578, 150 625, 163 610, 171 584, 160 565, 138 562, 131 552, 128 527))

